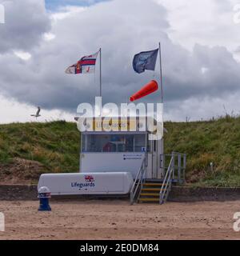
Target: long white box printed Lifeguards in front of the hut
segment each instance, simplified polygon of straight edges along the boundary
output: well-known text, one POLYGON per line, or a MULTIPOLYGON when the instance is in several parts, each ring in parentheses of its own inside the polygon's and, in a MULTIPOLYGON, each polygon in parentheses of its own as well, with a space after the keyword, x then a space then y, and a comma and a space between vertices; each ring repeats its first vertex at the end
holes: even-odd
POLYGON ((130 173, 42 174, 38 190, 49 188, 52 195, 128 194, 133 185, 130 173))

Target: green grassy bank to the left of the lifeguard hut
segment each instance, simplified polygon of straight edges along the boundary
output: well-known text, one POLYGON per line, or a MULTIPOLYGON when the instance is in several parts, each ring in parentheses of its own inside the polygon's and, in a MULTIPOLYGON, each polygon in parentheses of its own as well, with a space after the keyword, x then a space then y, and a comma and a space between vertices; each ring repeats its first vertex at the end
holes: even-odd
POLYGON ((41 162, 51 172, 77 172, 80 134, 75 123, 13 123, 0 126, 0 163, 14 158, 41 162))

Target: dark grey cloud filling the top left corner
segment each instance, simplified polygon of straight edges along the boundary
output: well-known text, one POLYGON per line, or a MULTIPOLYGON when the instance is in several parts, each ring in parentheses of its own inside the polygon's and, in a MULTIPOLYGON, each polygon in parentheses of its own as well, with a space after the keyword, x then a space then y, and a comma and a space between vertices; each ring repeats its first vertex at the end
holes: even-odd
POLYGON ((43 0, 0 1, 5 7, 5 24, 0 25, 0 54, 9 50, 30 50, 50 30, 50 18, 43 0))

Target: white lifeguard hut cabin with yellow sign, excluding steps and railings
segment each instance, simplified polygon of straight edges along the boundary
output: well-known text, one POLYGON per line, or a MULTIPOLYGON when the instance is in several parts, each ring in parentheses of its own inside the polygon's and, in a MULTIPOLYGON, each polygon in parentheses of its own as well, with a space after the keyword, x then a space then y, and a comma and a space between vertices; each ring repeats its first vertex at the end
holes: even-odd
POLYGON ((163 137, 149 139, 146 118, 86 118, 86 124, 91 129, 81 133, 80 172, 129 172, 135 179, 145 159, 146 178, 163 178, 163 137))

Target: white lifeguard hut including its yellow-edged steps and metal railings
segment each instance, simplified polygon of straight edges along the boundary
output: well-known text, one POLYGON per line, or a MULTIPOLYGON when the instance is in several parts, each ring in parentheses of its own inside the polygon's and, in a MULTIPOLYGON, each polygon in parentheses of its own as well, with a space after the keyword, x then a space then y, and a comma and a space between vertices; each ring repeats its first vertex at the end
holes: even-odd
MULTIPOLYGON (((163 203, 172 184, 185 180, 186 154, 164 154, 163 134, 158 140, 150 139, 156 130, 149 129, 146 119, 114 117, 104 122, 104 118, 93 118, 88 122, 92 130, 81 134, 79 170, 82 173, 130 173, 134 178, 131 203, 163 203), (103 131, 103 128, 106 129, 103 131)), ((157 121, 152 121, 157 127, 157 121)))

